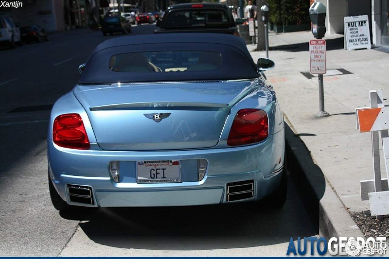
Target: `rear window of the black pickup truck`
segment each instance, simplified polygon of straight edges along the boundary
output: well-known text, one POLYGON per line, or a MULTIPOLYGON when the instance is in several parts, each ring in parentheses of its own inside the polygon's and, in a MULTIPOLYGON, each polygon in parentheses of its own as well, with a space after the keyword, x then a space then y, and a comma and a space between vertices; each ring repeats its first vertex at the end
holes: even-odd
POLYGON ((225 10, 177 10, 168 14, 165 27, 224 27, 230 26, 225 10))

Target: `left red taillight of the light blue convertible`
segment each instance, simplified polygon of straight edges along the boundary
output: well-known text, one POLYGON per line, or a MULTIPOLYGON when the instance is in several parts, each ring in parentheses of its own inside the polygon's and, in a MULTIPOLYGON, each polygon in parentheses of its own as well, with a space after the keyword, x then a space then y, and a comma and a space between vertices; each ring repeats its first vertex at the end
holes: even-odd
POLYGON ((54 120, 53 140, 60 147, 89 149, 89 139, 79 114, 63 114, 54 120))

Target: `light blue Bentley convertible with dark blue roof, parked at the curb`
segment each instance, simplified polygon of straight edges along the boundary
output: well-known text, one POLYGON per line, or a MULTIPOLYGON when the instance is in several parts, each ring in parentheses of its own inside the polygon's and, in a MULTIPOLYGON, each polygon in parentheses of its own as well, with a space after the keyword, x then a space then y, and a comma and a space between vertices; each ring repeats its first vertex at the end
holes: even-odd
POLYGON ((245 42, 175 33, 103 42, 53 106, 57 210, 286 199, 282 111, 245 42))

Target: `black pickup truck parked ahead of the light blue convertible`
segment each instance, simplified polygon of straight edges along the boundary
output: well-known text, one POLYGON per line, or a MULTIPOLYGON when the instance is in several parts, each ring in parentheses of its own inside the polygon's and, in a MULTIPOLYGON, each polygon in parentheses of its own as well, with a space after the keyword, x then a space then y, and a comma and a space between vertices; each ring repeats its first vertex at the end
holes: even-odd
POLYGON ((239 35, 237 25, 243 20, 234 20, 231 10, 221 3, 180 3, 170 5, 154 33, 210 32, 239 35))

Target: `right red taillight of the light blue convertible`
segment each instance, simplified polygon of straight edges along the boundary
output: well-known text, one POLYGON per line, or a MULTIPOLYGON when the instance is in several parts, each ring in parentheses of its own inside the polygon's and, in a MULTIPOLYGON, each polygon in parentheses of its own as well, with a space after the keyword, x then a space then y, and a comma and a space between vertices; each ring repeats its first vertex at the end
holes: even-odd
POLYGON ((239 110, 232 123, 227 145, 247 145, 265 140, 269 135, 269 122, 264 110, 239 110))

